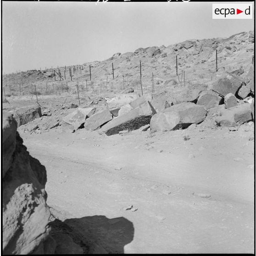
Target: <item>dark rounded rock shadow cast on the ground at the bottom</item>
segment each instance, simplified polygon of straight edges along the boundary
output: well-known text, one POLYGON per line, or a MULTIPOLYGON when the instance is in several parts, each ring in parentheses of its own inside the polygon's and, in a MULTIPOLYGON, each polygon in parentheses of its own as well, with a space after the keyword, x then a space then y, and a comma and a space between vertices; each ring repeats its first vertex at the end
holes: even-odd
POLYGON ((134 238, 134 225, 124 217, 88 216, 64 222, 55 219, 50 226, 53 237, 59 232, 69 235, 85 254, 124 253, 124 246, 134 238))

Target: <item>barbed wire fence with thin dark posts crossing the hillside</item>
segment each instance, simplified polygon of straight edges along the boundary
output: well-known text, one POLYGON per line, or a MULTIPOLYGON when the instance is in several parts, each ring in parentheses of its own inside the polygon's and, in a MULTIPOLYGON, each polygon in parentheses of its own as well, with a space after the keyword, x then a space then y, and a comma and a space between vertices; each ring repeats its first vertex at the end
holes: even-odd
MULTIPOLYGON (((111 65, 108 65, 110 67, 105 65, 101 69, 98 68, 99 64, 86 64, 57 68, 45 67, 43 71, 40 68, 40 70, 3 75, 2 99, 28 95, 31 95, 31 99, 35 96, 40 99, 52 95, 77 95, 78 92, 83 99, 89 95, 100 96, 110 92, 122 92, 129 87, 134 88, 139 95, 149 92, 157 93, 170 84, 179 88, 196 83, 210 85, 212 81, 216 80, 218 70, 232 72, 234 66, 237 69, 239 67, 248 68, 254 61, 253 55, 252 63, 248 63, 248 60, 245 59, 236 61, 235 65, 230 65, 224 57, 223 60, 218 61, 213 59, 211 63, 201 60, 201 63, 197 63, 200 65, 192 66, 192 63, 186 61, 186 54, 177 56, 179 59, 176 64, 176 56, 173 55, 174 65, 166 63, 163 67, 163 65, 157 66, 157 61, 148 63, 140 60, 122 73, 118 70, 119 65, 114 65, 112 62, 111 65), (87 71, 84 72, 84 69, 87 71), (136 69, 136 72, 129 73, 128 71, 131 69, 136 69), (178 72, 176 73, 176 71, 178 72), (44 74, 47 74, 48 78, 45 78, 44 74)), ((194 58, 194 60, 196 59, 194 58)))

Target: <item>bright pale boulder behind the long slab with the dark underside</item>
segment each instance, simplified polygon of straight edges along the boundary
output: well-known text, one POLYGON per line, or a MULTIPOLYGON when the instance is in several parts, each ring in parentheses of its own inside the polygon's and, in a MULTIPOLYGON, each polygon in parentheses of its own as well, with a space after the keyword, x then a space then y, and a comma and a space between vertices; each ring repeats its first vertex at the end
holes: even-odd
POLYGON ((138 97, 139 96, 137 94, 132 93, 120 94, 111 99, 106 98, 106 103, 113 116, 117 117, 121 106, 136 100, 138 97))

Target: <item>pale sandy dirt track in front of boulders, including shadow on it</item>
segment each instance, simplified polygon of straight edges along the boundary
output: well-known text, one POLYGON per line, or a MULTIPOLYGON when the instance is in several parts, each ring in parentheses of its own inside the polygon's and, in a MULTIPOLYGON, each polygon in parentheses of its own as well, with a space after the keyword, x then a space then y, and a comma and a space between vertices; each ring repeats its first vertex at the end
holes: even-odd
POLYGON ((48 205, 106 252, 253 253, 253 132, 250 122, 21 137, 46 167, 48 205))

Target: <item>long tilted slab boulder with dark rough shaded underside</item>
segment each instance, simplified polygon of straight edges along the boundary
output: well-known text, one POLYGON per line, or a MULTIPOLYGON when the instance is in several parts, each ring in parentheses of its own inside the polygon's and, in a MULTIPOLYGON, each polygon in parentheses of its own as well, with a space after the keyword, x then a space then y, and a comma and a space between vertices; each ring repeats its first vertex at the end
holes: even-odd
POLYGON ((151 117, 156 113, 149 101, 139 105, 128 113, 114 118, 102 126, 106 135, 118 134, 124 130, 136 130, 149 124, 151 117))

